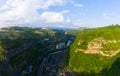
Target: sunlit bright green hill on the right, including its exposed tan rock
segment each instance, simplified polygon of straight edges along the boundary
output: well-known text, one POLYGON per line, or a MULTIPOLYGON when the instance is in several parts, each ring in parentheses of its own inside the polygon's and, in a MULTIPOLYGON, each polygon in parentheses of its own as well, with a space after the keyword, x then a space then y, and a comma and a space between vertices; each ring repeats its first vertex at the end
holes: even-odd
POLYGON ((80 33, 70 48, 69 67, 80 76, 120 76, 120 26, 80 33))

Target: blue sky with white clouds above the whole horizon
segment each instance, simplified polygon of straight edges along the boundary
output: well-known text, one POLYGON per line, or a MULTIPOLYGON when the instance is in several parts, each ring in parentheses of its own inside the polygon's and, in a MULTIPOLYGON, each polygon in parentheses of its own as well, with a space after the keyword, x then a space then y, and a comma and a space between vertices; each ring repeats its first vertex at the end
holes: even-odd
POLYGON ((0 0, 0 27, 103 27, 119 14, 120 0, 0 0))

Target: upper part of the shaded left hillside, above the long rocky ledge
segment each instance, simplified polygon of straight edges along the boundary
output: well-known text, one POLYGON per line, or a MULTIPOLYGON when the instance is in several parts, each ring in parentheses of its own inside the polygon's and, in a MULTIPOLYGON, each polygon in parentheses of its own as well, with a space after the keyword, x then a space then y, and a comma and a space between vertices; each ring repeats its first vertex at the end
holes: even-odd
POLYGON ((0 29, 0 61, 10 50, 55 36, 56 31, 42 28, 8 27, 0 29))

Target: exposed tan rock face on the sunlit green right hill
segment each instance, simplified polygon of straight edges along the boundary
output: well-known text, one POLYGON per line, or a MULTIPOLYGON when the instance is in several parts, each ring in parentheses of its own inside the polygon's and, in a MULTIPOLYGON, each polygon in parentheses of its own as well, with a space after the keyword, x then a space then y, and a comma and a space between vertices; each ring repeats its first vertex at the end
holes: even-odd
MULTIPOLYGON (((78 46, 81 45, 81 43, 82 43, 82 41, 79 41, 78 46)), ((104 47, 103 47, 104 45, 116 44, 116 43, 120 43, 120 40, 105 40, 104 38, 96 38, 96 39, 91 40, 88 43, 86 50, 77 48, 77 50, 75 50, 75 52, 76 53, 83 52, 86 54, 99 54, 102 56, 113 57, 120 52, 120 47, 116 50, 113 50, 113 49, 102 50, 102 49, 104 49, 104 47)))

